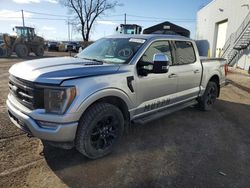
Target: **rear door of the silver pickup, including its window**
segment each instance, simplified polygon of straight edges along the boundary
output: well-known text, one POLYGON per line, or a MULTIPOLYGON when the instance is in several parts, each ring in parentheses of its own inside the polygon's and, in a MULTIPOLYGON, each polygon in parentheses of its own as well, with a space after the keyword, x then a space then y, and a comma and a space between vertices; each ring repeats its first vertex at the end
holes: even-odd
POLYGON ((196 98, 200 91, 202 66, 190 41, 173 41, 174 62, 178 77, 176 102, 196 98))

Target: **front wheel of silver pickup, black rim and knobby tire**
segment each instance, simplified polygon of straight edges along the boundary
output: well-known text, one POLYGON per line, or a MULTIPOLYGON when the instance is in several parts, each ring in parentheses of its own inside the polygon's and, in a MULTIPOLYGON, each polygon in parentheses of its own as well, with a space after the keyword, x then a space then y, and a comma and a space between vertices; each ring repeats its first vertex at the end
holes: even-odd
POLYGON ((123 130, 124 117, 119 108, 108 103, 96 103, 79 122, 76 148, 88 158, 103 157, 113 150, 123 130))

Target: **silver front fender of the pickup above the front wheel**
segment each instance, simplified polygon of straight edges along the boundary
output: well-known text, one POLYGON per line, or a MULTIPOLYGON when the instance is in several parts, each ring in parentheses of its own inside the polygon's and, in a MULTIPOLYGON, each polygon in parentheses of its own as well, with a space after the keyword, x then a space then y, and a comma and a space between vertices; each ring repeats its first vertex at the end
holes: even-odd
POLYGON ((128 109, 133 108, 135 93, 127 86, 127 77, 133 76, 133 65, 122 65, 121 69, 122 73, 64 81, 62 86, 76 86, 77 89, 77 95, 67 113, 77 113, 80 118, 95 101, 110 96, 121 98, 128 109))

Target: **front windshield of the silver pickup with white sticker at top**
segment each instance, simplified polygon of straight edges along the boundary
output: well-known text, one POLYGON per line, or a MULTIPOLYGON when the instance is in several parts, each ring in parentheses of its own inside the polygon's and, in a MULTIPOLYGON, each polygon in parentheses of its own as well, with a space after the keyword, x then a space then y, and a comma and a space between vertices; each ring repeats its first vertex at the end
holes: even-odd
POLYGON ((136 38, 103 38, 85 48, 76 57, 112 64, 128 63, 145 42, 136 38))

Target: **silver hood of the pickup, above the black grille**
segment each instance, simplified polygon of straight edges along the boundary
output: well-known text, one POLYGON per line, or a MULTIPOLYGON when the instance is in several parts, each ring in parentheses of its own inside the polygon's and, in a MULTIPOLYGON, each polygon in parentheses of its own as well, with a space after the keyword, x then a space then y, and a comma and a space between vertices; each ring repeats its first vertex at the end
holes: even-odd
POLYGON ((36 83, 61 84, 67 79, 114 74, 119 67, 74 57, 59 57, 17 63, 10 68, 9 73, 36 83))

